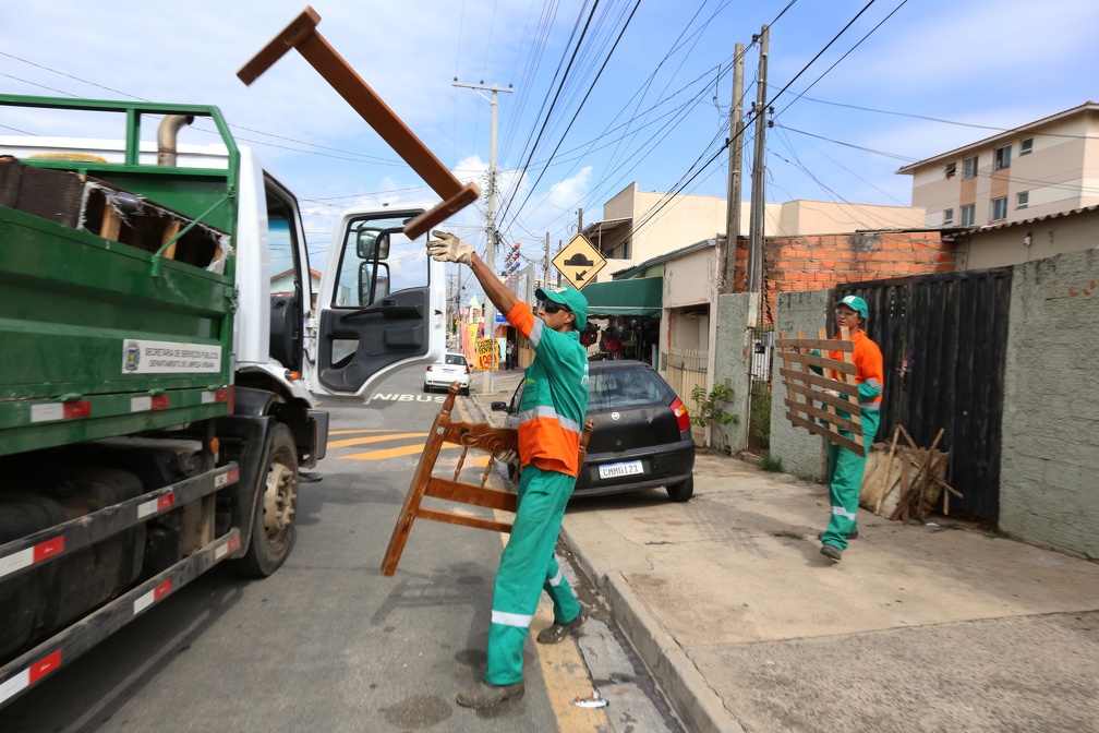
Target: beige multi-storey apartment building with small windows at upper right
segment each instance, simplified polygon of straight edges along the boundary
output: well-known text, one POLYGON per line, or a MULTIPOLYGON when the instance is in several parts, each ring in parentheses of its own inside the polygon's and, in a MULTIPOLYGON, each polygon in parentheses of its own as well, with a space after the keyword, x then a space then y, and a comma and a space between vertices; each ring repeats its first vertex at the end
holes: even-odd
POLYGON ((900 168, 924 225, 980 227, 1099 203, 1099 104, 1035 122, 900 168))

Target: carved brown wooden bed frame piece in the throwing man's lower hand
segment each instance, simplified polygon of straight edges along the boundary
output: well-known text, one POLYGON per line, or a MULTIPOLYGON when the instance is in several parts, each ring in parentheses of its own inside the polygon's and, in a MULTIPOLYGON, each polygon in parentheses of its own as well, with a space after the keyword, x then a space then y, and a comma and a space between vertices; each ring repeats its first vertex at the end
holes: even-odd
MULTIPOLYGON (((431 426, 428 443, 423 446, 423 454, 420 456, 420 463, 417 466, 415 474, 412 476, 409 492, 404 497, 401 513, 397 518, 397 524, 393 526, 393 534, 389 538, 389 547, 386 548, 386 556, 381 560, 381 575, 391 576, 397 571, 397 564, 401 559, 401 554, 404 552, 404 544, 412 532, 412 523, 417 519, 430 519, 434 522, 458 524, 460 526, 471 526, 493 532, 511 532, 511 522, 499 522, 493 519, 474 517, 465 512, 432 509, 422 506, 424 497, 433 497, 460 504, 474 504, 508 512, 515 511, 518 497, 514 493, 493 489, 485 486, 485 484, 492 471, 496 454, 509 449, 514 451, 515 455, 519 454, 519 432, 513 427, 492 427, 487 423, 452 422, 451 410, 454 408, 454 399, 459 391, 458 382, 455 381, 452 384, 446 395, 446 400, 443 402, 443 409, 435 415, 435 422, 431 426), (444 443, 460 445, 463 448, 462 456, 458 458, 458 465, 454 469, 454 476, 449 478, 433 475, 439 452, 444 443), (468 484, 458 480, 469 448, 485 451, 489 454, 488 465, 485 466, 485 471, 480 476, 479 484, 468 484)), ((584 459, 588 453, 588 438, 591 437, 593 429, 595 423, 591 420, 588 420, 584 425, 584 433, 580 435, 580 452, 577 465, 584 465, 584 459)))

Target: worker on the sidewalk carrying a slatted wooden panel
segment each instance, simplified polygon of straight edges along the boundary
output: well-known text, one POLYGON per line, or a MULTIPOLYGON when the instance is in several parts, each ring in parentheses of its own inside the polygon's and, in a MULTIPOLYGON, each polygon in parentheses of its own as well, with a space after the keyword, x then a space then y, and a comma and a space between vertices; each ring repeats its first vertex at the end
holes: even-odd
MULTIPOLYGON (((878 432, 881 419, 881 391, 885 389, 884 363, 881 349, 870 341, 863 330, 869 309, 866 301, 858 296, 844 297, 835 309, 836 334, 846 326, 848 337, 855 344, 855 385, 858 386, 858 414, 863 426, 863 446, 869 453, 874 436, 878 432)), ((843 360, 843 352, 829 352, 829 358, 843 360)), ((848 375, 829 370, 826 375, 840 381, 848 375)), ((833 396, 839 397, 839 392, 833 396)), ((845 413, 840 413, 846 417, 845 413)), ((840 434, 851 438, 851 431, 841 430, 840 434)), ((832 515, 828 529, 818 537, 821 541, 821 555, 831 560, 840 562, 843 551, 847 548, 847 540, 858 536, 858 497, 863 488, 863 470, 866 468, 866 455, 856 455, 851 448, 834 443, 828 446, 828 488, 832 504, 832 515)))

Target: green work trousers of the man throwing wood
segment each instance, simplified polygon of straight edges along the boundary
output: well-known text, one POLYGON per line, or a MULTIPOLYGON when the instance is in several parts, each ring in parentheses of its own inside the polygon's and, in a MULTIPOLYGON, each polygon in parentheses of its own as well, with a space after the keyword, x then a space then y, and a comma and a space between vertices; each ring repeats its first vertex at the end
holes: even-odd
POLYGON ((543 590, 553 600, 554 621, 568 623, 580 612, 553 553, 575 485, 576 478, 567 474, 523 466, 515 522, 492 593, 485 671, 489 685, 513 685, 523 678, 523 644, 543 590))

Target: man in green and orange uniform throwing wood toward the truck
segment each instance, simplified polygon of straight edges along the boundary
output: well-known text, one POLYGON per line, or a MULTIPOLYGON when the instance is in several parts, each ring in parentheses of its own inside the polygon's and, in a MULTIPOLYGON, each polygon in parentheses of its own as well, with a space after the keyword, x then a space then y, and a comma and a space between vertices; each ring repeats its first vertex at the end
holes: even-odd
POLYGON ((445 232, 432 236, 431 257, 469 266, 488 299, 534 348, 519 408, 523 470, 515 521, 496 574, 487 669, 480 682, 457 697, 458 704, 480 709, 522 697, 523 644, 542 590, 553 600, 554 623, 539 634, 540 643, 563 641, 587 619, 553 551, 576 485, 588 408, 588 355, 579 337, 587 325, 588 301, 575 288, 540 288, 535 315, 473 247, 445 232))

